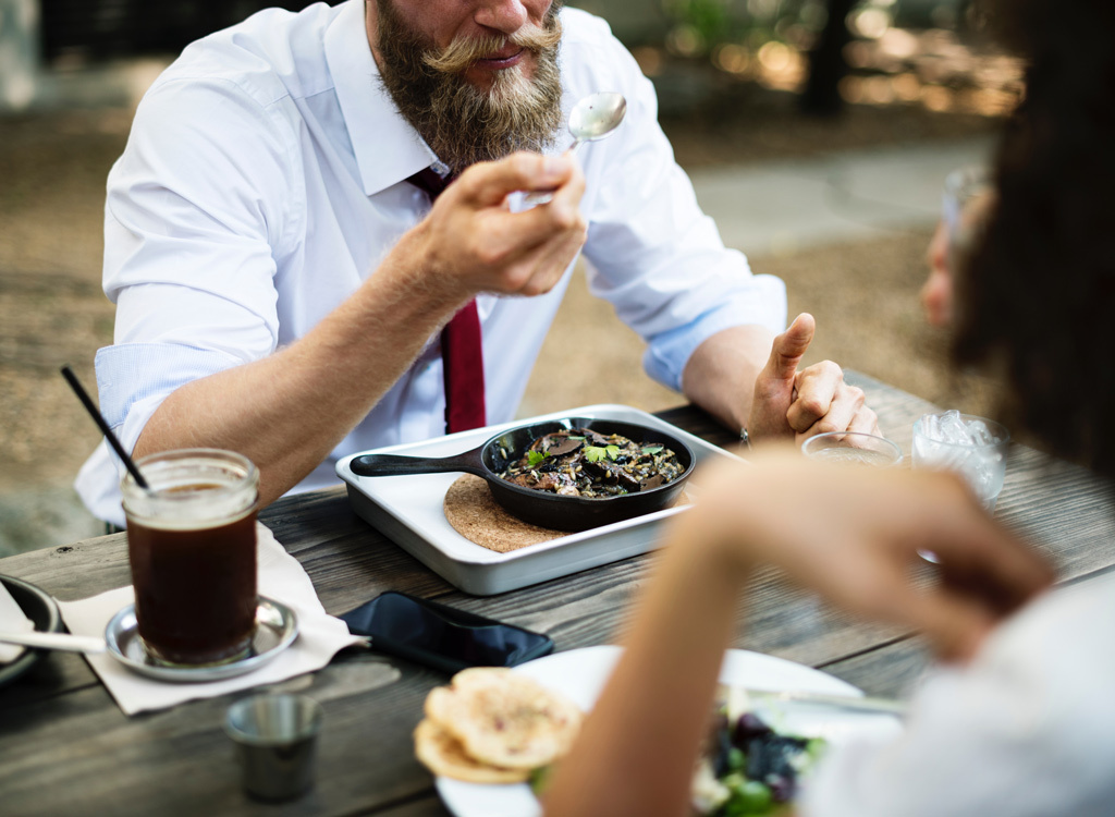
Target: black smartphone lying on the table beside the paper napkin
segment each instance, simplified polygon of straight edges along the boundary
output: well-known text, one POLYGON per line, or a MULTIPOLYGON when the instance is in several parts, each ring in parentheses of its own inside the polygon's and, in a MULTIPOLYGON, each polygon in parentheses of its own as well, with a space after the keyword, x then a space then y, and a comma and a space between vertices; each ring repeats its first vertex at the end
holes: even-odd
POLYGON ((369 636, 372 650, 448 673, 468 666, 514 666, 554 648, 543 633, 395 590, 339 618, 352 633, 369 636))

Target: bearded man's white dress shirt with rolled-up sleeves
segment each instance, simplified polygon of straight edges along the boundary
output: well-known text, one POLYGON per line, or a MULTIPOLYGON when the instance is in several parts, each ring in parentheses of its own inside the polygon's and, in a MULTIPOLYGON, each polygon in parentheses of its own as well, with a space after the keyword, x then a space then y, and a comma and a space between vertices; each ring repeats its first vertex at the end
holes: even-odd
MULTIPOLYGON (((621 127, 579 154, 589 285, 647 340, 647 372, 679 388, 712 334, 780 331, 785 289, 724 248, 657 124, 651 84, 607 23, 574 9, 562 22, 563 108, 598 90, 628 99, 621 127)), ((405 180, 434 162, 379 83, 361 0, 262 11, 187 47, 144 97, 108 179, 116 334, 96 366, 125 448, 171 392, 291 344, 356 291, 428 211, 405 180)), ((477 299, 489 423, 514 416, 571 271, 541 297, 477 299)), ((336 460, 353 451, 445 433, 444 408, 434 337, 298 490, 336 482, 336 460)), ((120 472, 103 444, 77 481, 117 523, 120 472)))

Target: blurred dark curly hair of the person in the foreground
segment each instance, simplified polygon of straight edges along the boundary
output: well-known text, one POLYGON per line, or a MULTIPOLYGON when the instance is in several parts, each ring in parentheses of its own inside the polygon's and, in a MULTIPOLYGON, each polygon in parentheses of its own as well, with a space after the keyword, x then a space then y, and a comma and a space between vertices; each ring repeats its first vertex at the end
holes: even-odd
POLYGON ((1007 0, 998 18, 1026 96, 957 281, 953 356, 1002 367, 1008 423, 1115 475, 1115 3, 1007 0))

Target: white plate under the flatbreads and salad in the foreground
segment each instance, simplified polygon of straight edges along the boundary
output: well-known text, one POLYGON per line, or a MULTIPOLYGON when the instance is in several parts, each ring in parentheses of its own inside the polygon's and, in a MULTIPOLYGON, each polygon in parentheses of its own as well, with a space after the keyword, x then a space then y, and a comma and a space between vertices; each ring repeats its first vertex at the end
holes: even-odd
MULTIPOLYGON (((620 647, 594 646, 570 650, 516 667, 539 683, 561 692, 585 711, 592 709, 612 667, 620 656, 620 647)), ((852 684, 793 661, 773 655, 729 650, 720 667, 720 682, 757 690, 801 690, 834 695, 862 695, 852 684)), ((851 712, 826 713, 818 720, 795 722, 788 715, 780 729, 806 737, 824 737, 838 743, 853 736, 884 738, 898 734, 900 724, 891 715, 851 712)), ((514 786, 484 786, 462 782, 446 777, 436 779, 437 791, 446 807, 456 817, 539 817, 542 809, 526 784, 514 786)))

